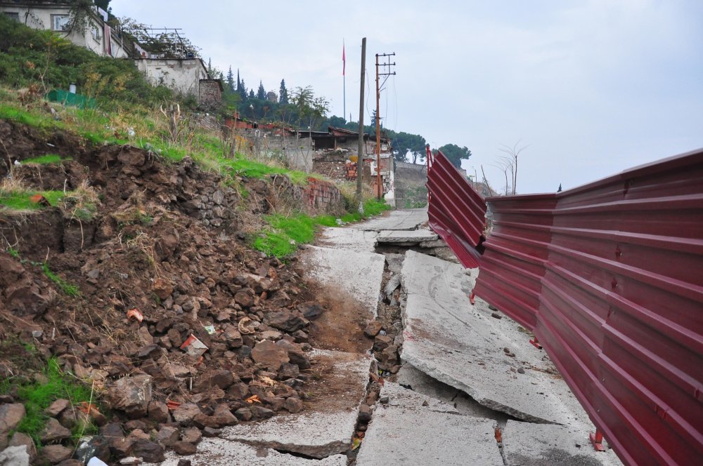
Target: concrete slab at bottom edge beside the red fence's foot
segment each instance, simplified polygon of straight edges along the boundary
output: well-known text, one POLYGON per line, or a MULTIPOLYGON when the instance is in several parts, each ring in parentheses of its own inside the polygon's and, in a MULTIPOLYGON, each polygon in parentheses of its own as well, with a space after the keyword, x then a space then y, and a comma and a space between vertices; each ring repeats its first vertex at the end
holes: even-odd
POLYGON ((598 452, 572 427, 509 420, 503 429, 503 453, 508 466, 621 465, 614 451, 598 452))

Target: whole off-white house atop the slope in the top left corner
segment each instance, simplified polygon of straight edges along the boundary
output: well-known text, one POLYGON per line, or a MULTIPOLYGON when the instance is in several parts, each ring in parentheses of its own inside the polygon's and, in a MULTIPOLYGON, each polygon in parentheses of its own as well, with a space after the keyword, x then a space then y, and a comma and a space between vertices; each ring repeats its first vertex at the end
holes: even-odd
POLYGON ((73 44, 88 48, 105 57, 129 58, 134 43, 120 28, 108 25, 108 13, 97 6, 86 12, 81 27, 71 24, 69 1, 2 1, 0 12, 33 29, 49 29, 65 36, 73 44))

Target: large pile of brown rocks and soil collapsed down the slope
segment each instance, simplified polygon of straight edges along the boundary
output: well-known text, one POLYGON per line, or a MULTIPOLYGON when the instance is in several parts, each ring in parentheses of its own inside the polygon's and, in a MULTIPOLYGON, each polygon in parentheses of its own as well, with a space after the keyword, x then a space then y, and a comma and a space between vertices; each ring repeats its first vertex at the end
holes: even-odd
MULTIPOLYGON (((295 260, 247 246, 236 191, 190 161, 166 166, 134 148, 96 152, 76 156, 103 199, 79 225, 82 241, 64 244, 76 238, 67 234, 75 225, 53 208, 1 219, 18 241, 13 255, 0 252, 0 341, 17 338, 56 358, 100 402, 57 400, 37 451, 24 434, 8 439, 25 414, 10 390, 0 398, 0 451, 26 445, 33 464, 158 462, 168 448, 194 453, 221 427, 304 410, 307 329, 325 307, 295 260), (56 221, 61 237, 42 237, 42 225, 56 221), (77 293, 66 295, 62 284, 77 293), (70 429, 86 417, 99 434, 72 455, 70 429)), ((272 199, 266 183, 251 183, 255 204, 245 210, 259 213, 272 199)), ((41 379, 3 349, 0 371, 41 379)))

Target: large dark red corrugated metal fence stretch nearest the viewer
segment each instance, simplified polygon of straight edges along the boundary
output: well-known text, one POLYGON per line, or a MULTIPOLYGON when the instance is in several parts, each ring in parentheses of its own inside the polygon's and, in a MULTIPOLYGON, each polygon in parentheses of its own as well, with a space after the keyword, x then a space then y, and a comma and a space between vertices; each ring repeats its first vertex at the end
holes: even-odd
POLYGON ((626 464, 703 458, 703 151, 489 204, 477 295, 534 331, 626 464))

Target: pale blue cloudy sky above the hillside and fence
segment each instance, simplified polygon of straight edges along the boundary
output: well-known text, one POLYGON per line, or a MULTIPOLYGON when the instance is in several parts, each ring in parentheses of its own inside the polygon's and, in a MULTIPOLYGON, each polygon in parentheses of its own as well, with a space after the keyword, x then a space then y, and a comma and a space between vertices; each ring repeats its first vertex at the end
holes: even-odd
POLYGON ((556 191, 703 147, 703 1, 112 0, 112 13, 179 27, 247 88, 311 86, 330 114, 375 109, 375 54, 395 53, 385 128, 472 152, 505 189, 501 147, 524 147, 517 192, 556 191), (346 76, 342 77, 342 44, 346 76), (346 82, 344 82, 344 79, 346 82), (344 97, 346 86, 346 99, 344 97))

